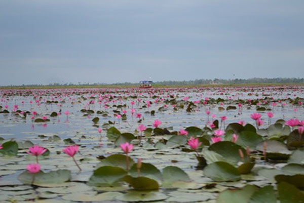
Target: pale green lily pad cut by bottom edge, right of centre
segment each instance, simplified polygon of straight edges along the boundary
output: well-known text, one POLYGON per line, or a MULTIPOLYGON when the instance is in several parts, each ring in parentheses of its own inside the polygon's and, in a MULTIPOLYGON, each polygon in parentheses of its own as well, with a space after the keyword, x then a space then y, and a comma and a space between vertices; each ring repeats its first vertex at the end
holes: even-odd
POLYGON ((258 190, 254 185, 246 185, 241 189, 226 189, 219 193, 216 203, 245 203, 258 190))

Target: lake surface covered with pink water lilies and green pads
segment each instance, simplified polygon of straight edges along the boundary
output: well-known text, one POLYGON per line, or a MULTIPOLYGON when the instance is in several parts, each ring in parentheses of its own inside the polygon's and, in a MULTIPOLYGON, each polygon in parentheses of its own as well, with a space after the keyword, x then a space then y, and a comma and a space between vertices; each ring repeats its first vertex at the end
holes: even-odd
POLYGON ((2 89, 1 202, 304 202, 303 86, 2 89))

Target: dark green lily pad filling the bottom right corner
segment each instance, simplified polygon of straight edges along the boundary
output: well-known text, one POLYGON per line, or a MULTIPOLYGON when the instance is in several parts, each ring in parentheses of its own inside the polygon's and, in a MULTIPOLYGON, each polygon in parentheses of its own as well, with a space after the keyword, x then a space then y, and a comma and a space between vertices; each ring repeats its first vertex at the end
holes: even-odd
POLYGON ((304 194, 292 184, 286 182, 278 183, 279 200, 281 203, 303 202, 304 194))

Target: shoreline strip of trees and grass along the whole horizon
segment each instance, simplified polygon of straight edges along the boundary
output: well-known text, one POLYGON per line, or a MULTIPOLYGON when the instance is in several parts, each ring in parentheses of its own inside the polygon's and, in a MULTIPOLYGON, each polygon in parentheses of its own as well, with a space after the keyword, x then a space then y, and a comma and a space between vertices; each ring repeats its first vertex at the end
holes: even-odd
MULTIPOLYGON (((304 78, 249 78, 249 79, 196 79, 183 81, 162 81, 154 82, 154 88, 174 88, 174 87, 214 87, 214 86, 280 86, 280 85, 304 85, 304 78)), ((139 83, 53 83, 49 85, 8 85, 0 86, 0 89, 60 89, 60 88, 136 88, 139 83)))

